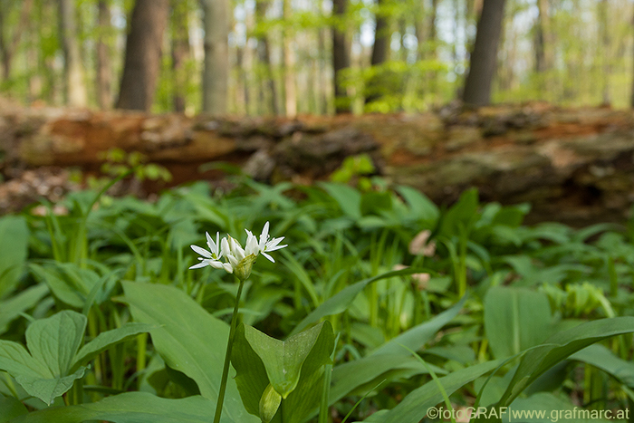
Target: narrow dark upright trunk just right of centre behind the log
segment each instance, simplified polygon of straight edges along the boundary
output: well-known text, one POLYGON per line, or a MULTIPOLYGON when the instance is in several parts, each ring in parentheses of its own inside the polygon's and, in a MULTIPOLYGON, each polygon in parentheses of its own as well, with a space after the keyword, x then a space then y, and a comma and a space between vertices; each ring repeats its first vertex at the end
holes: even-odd
POLYGON ((346 40, 345 14, 348 0, 332 0, 332 70, 334 82, 335 113, 350 112, 351 101, 347 90, 341 84, 341 71, 350 67, 350 46, 346 40))

